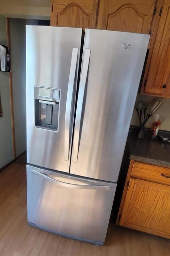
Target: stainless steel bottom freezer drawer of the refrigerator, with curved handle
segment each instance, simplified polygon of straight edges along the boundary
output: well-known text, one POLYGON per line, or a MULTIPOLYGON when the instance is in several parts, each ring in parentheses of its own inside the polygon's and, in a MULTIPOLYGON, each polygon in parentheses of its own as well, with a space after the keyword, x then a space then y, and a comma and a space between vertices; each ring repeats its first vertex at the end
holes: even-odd
POLYGON ((104 242, 116 184, 27 165, 28 222, 55 233, 104 242))

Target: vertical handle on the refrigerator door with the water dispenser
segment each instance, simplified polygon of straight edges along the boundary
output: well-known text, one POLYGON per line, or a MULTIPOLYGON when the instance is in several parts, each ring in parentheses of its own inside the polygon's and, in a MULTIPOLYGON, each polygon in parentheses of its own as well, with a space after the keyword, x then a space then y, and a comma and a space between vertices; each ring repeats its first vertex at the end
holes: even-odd
POLYGON ((71 103, 73 98, 74 81, 77 67, 78 48, 73 48, 71 56, 69 83, 66 100, 65 132, 64 132, 64 160, 69 160, 70 151, 70 124, 71 124, 71 103))

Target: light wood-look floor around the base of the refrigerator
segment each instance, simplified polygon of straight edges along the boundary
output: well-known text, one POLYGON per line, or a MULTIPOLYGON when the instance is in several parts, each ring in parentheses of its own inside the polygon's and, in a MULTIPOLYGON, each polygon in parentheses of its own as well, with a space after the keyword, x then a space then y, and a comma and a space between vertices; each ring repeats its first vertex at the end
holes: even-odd
POLYGON ((169 256, 170 240, 110 224, 98 246, 29 226, 25 164, 16 162, 0 174, 0 255, 169 256))

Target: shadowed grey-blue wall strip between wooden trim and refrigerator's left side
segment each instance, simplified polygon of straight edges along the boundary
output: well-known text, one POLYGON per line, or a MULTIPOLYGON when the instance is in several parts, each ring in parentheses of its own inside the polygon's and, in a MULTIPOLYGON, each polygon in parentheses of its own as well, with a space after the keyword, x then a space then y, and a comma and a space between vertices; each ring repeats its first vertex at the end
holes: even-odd
POLYGON ((25 19, 10 18, 16 156, 26 150, 25 19))

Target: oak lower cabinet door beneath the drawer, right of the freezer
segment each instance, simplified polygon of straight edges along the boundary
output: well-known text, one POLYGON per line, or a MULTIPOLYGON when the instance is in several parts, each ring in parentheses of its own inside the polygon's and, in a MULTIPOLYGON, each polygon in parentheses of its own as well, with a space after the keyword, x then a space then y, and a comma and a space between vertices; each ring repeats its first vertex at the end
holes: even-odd
POLYGON ((130 179, 120 225, 170 237, 170 187, 130 179))

